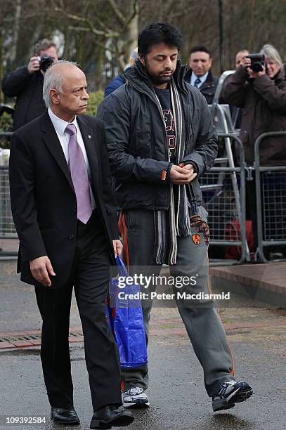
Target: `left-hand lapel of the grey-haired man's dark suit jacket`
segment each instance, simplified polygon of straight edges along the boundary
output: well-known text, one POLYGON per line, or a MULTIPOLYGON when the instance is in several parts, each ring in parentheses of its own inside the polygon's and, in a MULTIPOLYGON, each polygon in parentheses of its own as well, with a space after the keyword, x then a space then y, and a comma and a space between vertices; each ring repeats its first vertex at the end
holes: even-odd
POLYGON ((53 127, 53 123, 48 115, 48 111, 41 117, 41 131, 43 132, 43 140, 48 150, 51 151, 53 157, 56 159, 60 169, 63 171, 65 178, 74 191, 74 185, 72 184, 72 177, 70 176, 70 169, 67 166, 67 160, 63 153, 63 148, 58 140, 58 135, 53 127))

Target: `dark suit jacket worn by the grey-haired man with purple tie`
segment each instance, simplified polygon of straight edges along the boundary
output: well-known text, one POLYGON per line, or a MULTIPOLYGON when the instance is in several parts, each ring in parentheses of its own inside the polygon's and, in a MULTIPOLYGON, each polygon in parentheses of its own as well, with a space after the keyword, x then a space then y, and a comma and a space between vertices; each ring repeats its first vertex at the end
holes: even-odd
MULTIPOLYGON (((119 237, 105 128, 100 120, 77 116, 91 168, 91 188, 114 263, 112 240, 119 237)), ((20 239, 21 280, 37 285, 30 260, 47 255, 61 287, 72 268, 77 235, 77 199, 63 149, 48 112, 13 133, 9 164, 11 207, 20 239)))

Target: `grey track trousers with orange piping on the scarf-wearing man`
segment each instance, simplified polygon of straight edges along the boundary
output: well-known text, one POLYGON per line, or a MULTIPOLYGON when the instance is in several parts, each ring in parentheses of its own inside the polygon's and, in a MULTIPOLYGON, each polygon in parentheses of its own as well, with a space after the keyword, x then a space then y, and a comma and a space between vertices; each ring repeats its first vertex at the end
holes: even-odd
MULTIPOLYGON (((198 211, 201 219, 207 221, 207 211, 203 207, 199 207, 198 211)), ((156 271, 154 267, 156 251, 154 249, 154 212, 145 209, 124 211, 124 219, 121 219, 121 223, 124 223, 122 230, 125 233, 124 259, 126 260, 128 254, 129 266, 134 266, 131 267, 131 274, 132 271, 136 271, 135 266, 153 266, 149 273, 151 275, 156 271)), ((198 275, 196 284, 183 287, 183 290, 189 294, 199 292, 209 294, 208 245, 205 242, 204 233, 200 233, 197 227, 191 230, 192 234, 190 236, 177 237, 177 263, 174 266, 169 266, 170 274, 174 278, 181 275, 198 275), (200 235, 200 245, 195 245, 195 242, 193 242, 193 234, 200 235)), ((155 275, 160 271, 160 266, 157 267, 155 275)), ((144 271, 146 271, 145 268, 144 271)), ((178 289, 174 287, 175 297, 177 291, 178 289)), ((212 300, 207 303, 204 301, 201 304, 199 301, 195 301, 193 307, 190 307, 189 304, 184 306, 181 301, 180 303, 177 301, 177 306, 195 354, 203 367, 205 388, 209 396, 213 396, 222 382, 234 379, 233 357, 218 311, 212 300)), ((151 307, 152 302, 148 307, 146 305, 143 307, 147 342, 151 307)), ((124 379, 124 391, 135 386, 147 389, 148 365, 146 364, 136 369, 122 369, 122 377, 124 379)))

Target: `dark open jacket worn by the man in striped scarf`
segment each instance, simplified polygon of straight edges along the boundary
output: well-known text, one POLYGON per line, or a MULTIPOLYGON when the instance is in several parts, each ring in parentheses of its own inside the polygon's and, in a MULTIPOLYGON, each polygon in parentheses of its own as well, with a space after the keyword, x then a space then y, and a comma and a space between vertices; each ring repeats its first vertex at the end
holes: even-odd
MULTIPOLYGON (((183 80, 185 70, 178 62, 173 75, 186 123, 187 150, 180 161, 193 162, 201 176, 214 163, 217 138, 204 97, 183 80)), ((98 108, 98 117, 105 122, 119 209, 169 209, 171 165, 162 108, 145 67, 138 60, 136 66, 126 70, 125 76, 128 82, 105 98, 98 108)), ((202 193, 197 178, 192 185, 200 204, 202 193)))

